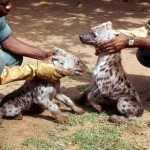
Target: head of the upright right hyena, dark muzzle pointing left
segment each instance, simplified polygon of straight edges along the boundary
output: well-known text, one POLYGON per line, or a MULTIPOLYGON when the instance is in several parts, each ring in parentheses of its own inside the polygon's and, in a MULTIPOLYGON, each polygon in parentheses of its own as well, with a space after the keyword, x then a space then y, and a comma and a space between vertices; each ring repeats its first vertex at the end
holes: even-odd
POLYGON ((79 37, 82 43, 96 46, 118 34, 119 32, 114 31, 112 29, 112 23, 108 21, 91 28, 89 32, 81 34, 79 37))

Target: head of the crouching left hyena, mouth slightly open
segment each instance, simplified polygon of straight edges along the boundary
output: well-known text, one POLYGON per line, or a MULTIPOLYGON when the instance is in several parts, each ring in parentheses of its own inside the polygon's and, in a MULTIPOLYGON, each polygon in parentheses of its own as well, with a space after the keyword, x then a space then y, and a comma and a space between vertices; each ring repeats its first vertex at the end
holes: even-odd
POLYGON ((54 47, 53 51, 56 51, 57 54, 48 58, 48 61, 52 61, 55 66, 67 69, 74 75, 82 75, 87 69, 87 66, 69 51, 59 47, 54 47))

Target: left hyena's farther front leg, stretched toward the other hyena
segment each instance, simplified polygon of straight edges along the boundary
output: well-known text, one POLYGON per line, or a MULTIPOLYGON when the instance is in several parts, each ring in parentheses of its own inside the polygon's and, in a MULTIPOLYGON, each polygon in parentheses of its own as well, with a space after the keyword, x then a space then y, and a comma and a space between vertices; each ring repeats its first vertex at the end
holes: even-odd
POLYGON ((84 113, 84 110, 74 104, 74 102, 66 95, 62 93, 57 93, 55 98, 65 105, 69 106, 76 114, 81 115, 84 113))

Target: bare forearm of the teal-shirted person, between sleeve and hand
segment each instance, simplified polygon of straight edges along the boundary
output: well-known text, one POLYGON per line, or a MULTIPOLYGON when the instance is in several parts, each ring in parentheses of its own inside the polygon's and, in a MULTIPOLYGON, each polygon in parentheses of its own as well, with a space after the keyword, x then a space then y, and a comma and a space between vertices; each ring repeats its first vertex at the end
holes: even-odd
POLYGON ((13 36, 9 36, 5 41, 3 41, 2 47, 17 55, 27 56, 40 60, 47 57, 46 51, 27 45, 22 41, 14 38, 13 36))

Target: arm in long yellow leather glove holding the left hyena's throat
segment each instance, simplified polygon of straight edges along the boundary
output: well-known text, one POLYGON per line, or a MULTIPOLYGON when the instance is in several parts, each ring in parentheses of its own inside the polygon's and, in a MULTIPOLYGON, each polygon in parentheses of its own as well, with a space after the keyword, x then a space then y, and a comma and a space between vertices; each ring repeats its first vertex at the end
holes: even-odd
POLYGON ((69 70, 43 62, 24 64, 22 66, 5 66, 2 74, 0 74, 0 85, 19 80, 31 80, 34 77, 48 82, 55 82, 70 74, 69 70))

